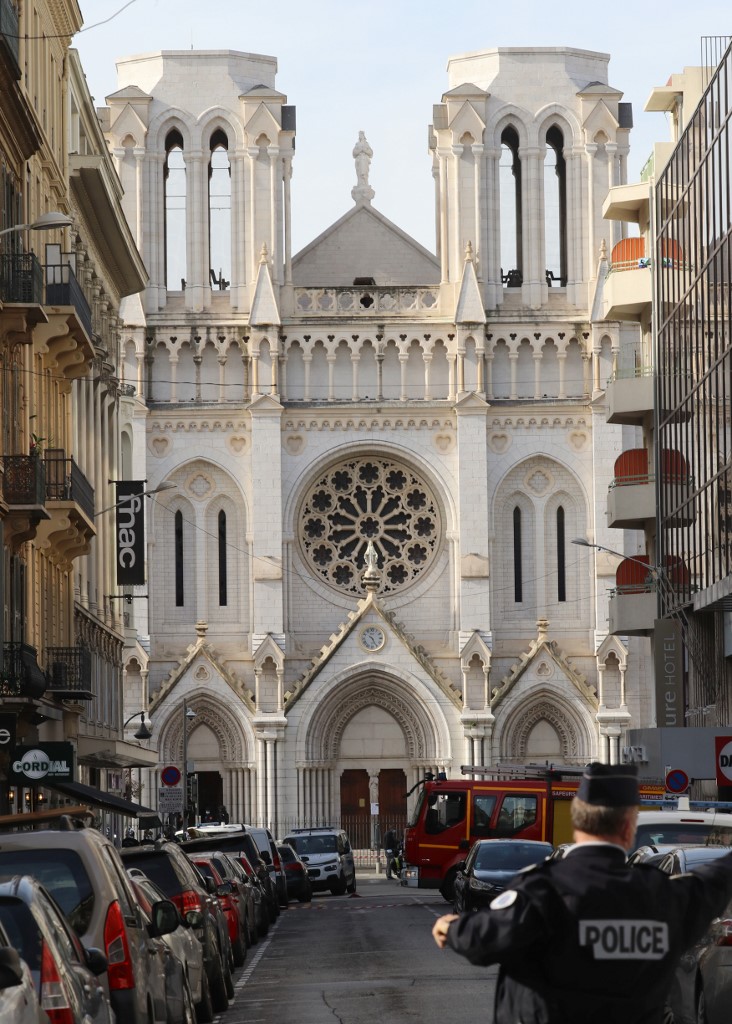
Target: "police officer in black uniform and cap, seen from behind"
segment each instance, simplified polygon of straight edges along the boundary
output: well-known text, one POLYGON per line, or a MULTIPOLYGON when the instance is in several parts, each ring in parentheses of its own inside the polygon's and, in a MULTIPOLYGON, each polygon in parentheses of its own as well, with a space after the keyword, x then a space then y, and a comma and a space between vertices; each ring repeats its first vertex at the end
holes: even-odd
POLYGON ((638 804, 635 766, 589 765, 565 856, 436 922, 440 948, 500 965, 496 1024, 661 1024, 682 953, 732 898, 732 853, 678 878, 629 866, 638 804))

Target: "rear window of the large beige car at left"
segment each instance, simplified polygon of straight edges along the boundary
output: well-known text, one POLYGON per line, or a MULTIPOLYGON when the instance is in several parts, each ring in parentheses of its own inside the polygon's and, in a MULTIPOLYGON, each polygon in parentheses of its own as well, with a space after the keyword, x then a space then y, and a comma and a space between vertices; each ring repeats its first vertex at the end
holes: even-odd
POLYGON ((94 891, 83 861, 74 850, 3 850, 0 873, 33 874, 48 890, 77 935, 89 930, 94 891))

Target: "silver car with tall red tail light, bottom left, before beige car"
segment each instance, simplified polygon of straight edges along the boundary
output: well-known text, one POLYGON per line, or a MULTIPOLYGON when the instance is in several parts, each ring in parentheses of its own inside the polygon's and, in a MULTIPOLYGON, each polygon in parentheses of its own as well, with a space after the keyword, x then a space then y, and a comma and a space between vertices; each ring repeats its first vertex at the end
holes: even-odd
POLYGON ((52 1007, 56 1018, 66 1016, 70 1024, 112 1024, 98 979, 106 957, 99 949, 84 949, 43 886, 30 876, 0 883, 0 923, 28 964, 44 1010, 52 1007))

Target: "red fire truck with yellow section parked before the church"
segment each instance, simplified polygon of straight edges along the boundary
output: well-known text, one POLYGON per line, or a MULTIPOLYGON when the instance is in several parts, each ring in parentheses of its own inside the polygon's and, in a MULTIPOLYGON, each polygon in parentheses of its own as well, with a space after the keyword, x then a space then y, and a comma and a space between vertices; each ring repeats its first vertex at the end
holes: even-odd
MULTIPOLYGON (((464 765, 464 775, 428 778, 404 833, 407 886, 439 889, 453 899, 457 865, 479 839, 533 839, 570 843, 569 805, 583 768, 464 765), (489 778, 487 776, 493 776, 489 778)), ((662 785, 641 785, 643 803, 658 803, 662 785)))

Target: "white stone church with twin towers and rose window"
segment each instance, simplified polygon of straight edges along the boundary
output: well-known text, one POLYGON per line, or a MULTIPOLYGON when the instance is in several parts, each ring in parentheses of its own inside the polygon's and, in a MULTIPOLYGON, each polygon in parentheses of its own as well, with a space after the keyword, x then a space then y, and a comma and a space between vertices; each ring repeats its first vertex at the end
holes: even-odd
POLYGON ((617 761, 652 724, 648 641, 608 633, 617 559, 572 545, 617 547, 638 429, 606 422, 638 344, 603 319, 632 127, 608 62, 454 57, 434 252, 380 213, 388 158, 355 125, 343 216, 298 253, 276 60, 118 62, 100 116, 149 275, 123 308, 123 475, 170 485, 129 591, 125 717, 149 714, 160 768, 185 748, 198 813, 403 822, 426 771, 617 761))

